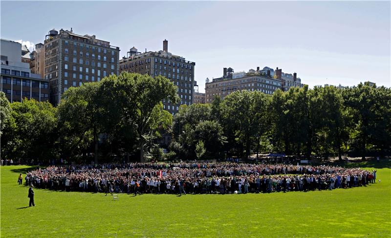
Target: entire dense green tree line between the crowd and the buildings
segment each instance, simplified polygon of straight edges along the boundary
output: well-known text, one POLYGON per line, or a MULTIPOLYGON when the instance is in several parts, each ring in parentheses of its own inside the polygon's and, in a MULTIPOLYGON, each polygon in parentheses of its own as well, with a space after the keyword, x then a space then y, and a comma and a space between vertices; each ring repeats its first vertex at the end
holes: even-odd
POLYGON ((177 103, 176 92, 164 77, 130 73, 70 87, 57 108, 26 99, 10 104, 1 92, 2 158, 103 162, 269 152, 365 158, 391 151, 390 88, 243 90, 212 104, 182 105, 173 117, 161 102, 177 103), (159 145, 162 135, 169 145, 159 145))

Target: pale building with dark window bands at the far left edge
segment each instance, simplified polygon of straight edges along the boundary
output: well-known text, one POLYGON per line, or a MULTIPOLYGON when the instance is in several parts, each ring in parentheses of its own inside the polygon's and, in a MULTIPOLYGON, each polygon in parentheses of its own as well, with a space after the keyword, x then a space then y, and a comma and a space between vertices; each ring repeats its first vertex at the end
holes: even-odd
POLYGON ((40 102, 49 100, 49 81, 32 73, 30 65, 22 61, 21 43, 1 39, 0 49, 0 90, 8 101, 21 102, 23 98, 40 102))

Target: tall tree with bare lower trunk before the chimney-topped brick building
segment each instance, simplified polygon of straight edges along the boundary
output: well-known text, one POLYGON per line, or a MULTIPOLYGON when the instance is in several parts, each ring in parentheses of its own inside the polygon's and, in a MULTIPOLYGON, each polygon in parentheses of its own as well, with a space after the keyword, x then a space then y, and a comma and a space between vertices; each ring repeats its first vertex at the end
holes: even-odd
POLYGON ((160 123, 164 122, 164 127, 172 120, 172 115, 162 109, 161 102, 166 100, 176 104, 179 100, 177 87, 162 76, 152 78, 128 72, 122 72, 118 77, 112 75, 111 80, 114 81, 114 91, 119 94, 114 103, 120 108, 121 121, 134 126, 139 142, 140 161, 143 162, 144 147, 150 136, 159 128, 160 123))

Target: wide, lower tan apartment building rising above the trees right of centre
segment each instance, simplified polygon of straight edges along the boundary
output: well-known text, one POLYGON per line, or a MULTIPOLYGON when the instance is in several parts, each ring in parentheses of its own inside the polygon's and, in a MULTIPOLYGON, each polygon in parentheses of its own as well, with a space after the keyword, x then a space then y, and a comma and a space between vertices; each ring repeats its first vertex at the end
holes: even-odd
POLYGON ((282 87, 282 79, 274 78, 270 75, 270 71, 264 74, 252 70, 244 75, 240 72, 242 77, 235 75, 232 68, 223 68, 223 76, 213 79, 212 82, 205 84, 205 102, 212 103, 215 96, 221 99, 230 93, 238 90, 261 91, 266 94, 272 94, 276 89, 282 87))

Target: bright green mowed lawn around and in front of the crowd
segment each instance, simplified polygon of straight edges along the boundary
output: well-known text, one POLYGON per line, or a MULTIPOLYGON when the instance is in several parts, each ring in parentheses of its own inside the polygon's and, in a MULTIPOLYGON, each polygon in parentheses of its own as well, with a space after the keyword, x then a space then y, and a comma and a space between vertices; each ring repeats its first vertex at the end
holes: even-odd
POLYGON ((391 237, 390 162, 380 183, 333 191, 112 196, 17 184, 28 166, 1 167, 1 237, 391 237))

